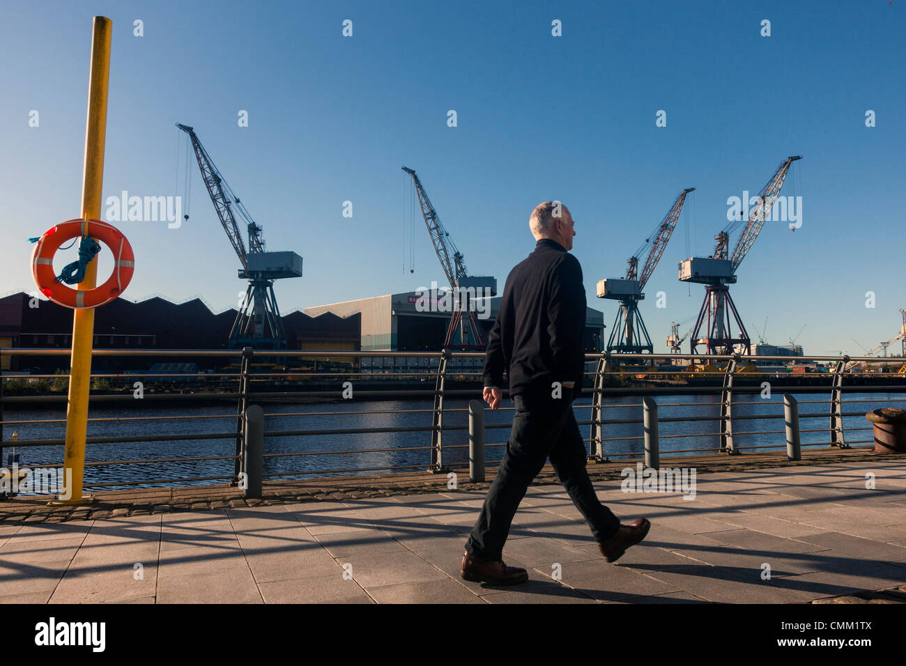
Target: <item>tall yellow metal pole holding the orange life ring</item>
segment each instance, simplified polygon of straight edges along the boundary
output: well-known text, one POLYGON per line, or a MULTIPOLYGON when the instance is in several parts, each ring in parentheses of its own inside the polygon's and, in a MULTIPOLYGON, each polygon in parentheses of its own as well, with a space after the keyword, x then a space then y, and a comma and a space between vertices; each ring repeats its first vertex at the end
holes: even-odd
MULTIPOLYGON (((88 121, 85 128, 85 161, 82 171, 82 217, 100 219, 101 188, 104 179, 104 143, 107 136, 107 92, 111 71, 111 33, 113 23, 104 16, 94 17, 92 30, 92 70, 88 82, 88 121)), ((97 285, 98 260, 88 264, 80 290, 97 285)), ((66 450, 63 453, 65 487, 51 504, 90 504, 93 497, 82 496, 85 468, 85 437, 88 431, 88 393, 92 384, 92 342, 94 309, 76 309, 72 316, 72 371, 66 410, 66 450)))

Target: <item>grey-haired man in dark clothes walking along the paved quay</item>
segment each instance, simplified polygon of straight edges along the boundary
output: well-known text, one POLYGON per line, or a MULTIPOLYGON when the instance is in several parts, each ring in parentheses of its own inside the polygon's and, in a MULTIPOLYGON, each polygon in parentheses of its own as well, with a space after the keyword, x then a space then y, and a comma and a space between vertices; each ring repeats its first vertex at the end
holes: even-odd
POLYGON ((496 410, 507 370, 516 416, 460 570, 466 580, 497 585, 528 580, 525 569, 504 564, 503 547, 516 509, 547 458, 608 562, 651 528, 646 518, 620 525, 598 500, 585 469, 587 453, 572 405, 582 391, 585 328, 582 266, 568 252, 573 217, 559 201, 545 201, 532 212, 529 227, 537 245, 506 278, 484 371, 484 399, 496 410))

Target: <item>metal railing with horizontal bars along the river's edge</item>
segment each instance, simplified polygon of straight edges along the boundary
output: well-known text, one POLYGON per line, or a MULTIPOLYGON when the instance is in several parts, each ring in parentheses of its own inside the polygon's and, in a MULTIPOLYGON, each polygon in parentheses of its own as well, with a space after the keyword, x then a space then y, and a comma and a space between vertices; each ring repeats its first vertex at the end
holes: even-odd
MULTIPOLYGON (((230 484, 240 485, 248 480, 246 469, 246 458, 248 457, 248 438, 246 430, 246 415, 252 405, 259 403, 286 403, 298 404, 301 401, 311 399, 330 399, 335 401, 357 401, 365 399, 428 399, 433 401, 431 409, 414 409, 414 410, 315 410, 315 411, 275 411, 264 415, 264 425, 261 430, 262 437, 265 439, 276 438, 293 438, 294 440, 304 441, 305 438, 311 437, 342 437, 365 434, 386 434, 386 433, 429 433, 426 436, 423 446, 405 446, 405 447, 377 447, 377 448, 353 448, 340 447, 339 449, 321 449, 321 450, 292 450, 292 451, 270 451, 262 453, 265 460, 288 460, 288 459, 322 459, 331 456, 357 456, 363 457, 364 454, 381 454, 400 451, 426 451, 427 455, 424 460, 413 461, 413 464, 406 465, 374 465, 359 462, 347 467, 327 467, 324 468, 296 468, 284 469, 281 471, 263 472, 263 478, 279 479, 287 477, 305 477, 305 476, 331 476, 352 473, 368 472, 393 472, 401 470, 412 470, 427 468, 435 473, 447 473, 448 464, 445 463, 445 453, 453 452, 465 453, 469 449, 469 443, 480 441, 482 451, 484 449, 499 449, 506 446, 504 442, 485 443, 487 431, 508 429, 508 423, 485 423, 483 413, 477 416, 476 412, 480 411, 472 405, 473 418, 469 420, 469 425, 459 425, 445 422, 445 416, 465 415, 469 412, 469 407, 450 407, 446 400, 450 399, 469 399, 476 398, 479 395, 481 372, 476 370, 475 364, 483 359, 484 354, 480 352, 453 352, 443 350, 441 352, 361 352, 350 350, 339 351, 262 351, 255 352, 251 348, 246 348, 241 352, 238 350, 108 350, 101 349, 93 352, 97 358, 105 357, 129 357, 136 359, 136 362, 142 357, 169 358, 169 359, 207 359, 214 362, 220 361, 228 363, 231 360, 237 365, 233 372, 181 372, 166 373, 161 371, 155 372, 108 372, 92 374, 92 381, 99 384, 100 391, 92 391, 91 401, 95 404, 109 402, 115 405, 121 405, 128 401, 178 401, 178 403, 189 401, 207 401, 222 404, 232 403, 235 410, 232 413, 222 414, 197 414, 197 415, 159 415, 146 414, 140 416, 116 416, 101 417, 90 419, 96 424, 140 424, 159 422, 161 430, 168 424, 188 420, 234 420, 235 428, 219 431, 202 431, 174 434, 168 432, 159 432, 150 434, 115 434, 108 436, 92 436, 86 439, 86 444, 90 445, 88 450, 91 451, 91 445, 101 444, 124 444, 124 443, 147 443, 154 445, 165 445, 168 443, 177 443, 197 440, 217 440, 223 441, 228 449, 218 451, 217 455, 202 456, 167 456, 136 458, 129 457, 123 459, 105 459, 93 460, 86 463, 86 468, 99 469, 111 468, 111 466, 129 466, 129 465, 156 465, 161 468, 172 464, 201 463, 201 462, 219 462, 232 460, 232 469, 230 473, 224 474, 204 474, 201 476, 183 476, 164 478, 110 478, 109 480, 98 480, 92 483, 86 483, 85 487, 129 487, 129 486, 156 486, 168 484, 198 484, 212 481, 226 481, 230 484), (294 360, 301 362, 303 360, 313 361, 313 367, 310 369, 290 369, 283 371, 256 370, 255 365, 263 360, 273 360, 275 355, 279 354, 284 362, 294 360), (350 364, 348 369, 337 369, 336 363, 327 362, 332 370, 324 371, 325 358, 354 358, 358 359, 360 364, 350 364), (393 364, 390 372, 365 372, 361 367, 361 359, 381 358, 381 359, 412 359, 416 364, 427 360, 429 367, 406 367, 397 368, 393 364), (458 367, 456 361, 472 359, 473 367, 458 367), (318 372, 317 363, 322 360, 322 372, 318 372), (408 380, 408 383, 403 383, 408 380), (433 381, 433 388, 414 388, 433 381), (389 386, 396 383, 396 386, 389 386), (146 388, 146 384, 148 384, 146 388), (278 389, 295 389, 283 390, 278 389), (119 389, 119 391, 117 391, 119 389), (270 390, 267 390, 270 389, 270 390), (278 418, 295 418, 295 417, 313 417, 326 416, 331 418, 341 418, 342 416, 357 415, 378 415, 378 414, 430 414, 430 423, 424 425, 410 426, 388 426, 388 427, 360 427, 360 428, 329 428, 329 429, 293 429, 293 430, 267 430, 268 421, 277 420, 278 418), (480 436, 474 432, 477 427, 475 424, 482 424, 480 436), (458 431, 466 431, 468 442, 457 444, 445 441, 445 435, 452 436, 458 431)), ((0 358, 12 357, 29 357, 29 356, 68 356, 69 350, 65 349, 0 349, 0 358)), ((589 437, 584 439, 589 447, 589 459, 594 462, 611 461, 613 458, 639 458, 640 450, 620 450, 616 448, 617 442, 638 444, 640 442, 651 441, 650 428, 644 428, 645 418, 649 419, 651 427, 651 410, 657 410, 652 397, 655 395, 672 395, 680 396, 687 393, 695 394, 714 394, 718 401, 683 403, 683 402, 661 402, 660 407, 671 408, 692 408, 692 407, 718 407, 718 415, 680 415, 668 416, 660 419, 655 416, 654 423, 682 423, 682 422, 711 422, 716 423, 713 431, 693 432, 693 433, 663 433, 660 434, 660 440, 664 439, 718 439, 718 448, 670 448, 661 451, 663 454, 689 454, 689 453, 714 453, 716 451, 729 455, 739 454, 747 449, 782 449, 787 446, 786 443, 775 445, 753 445, 744 446, 740 444, 740 438, 746 438, 757 435, 776 434, 778 436, 786 435, 786 428, 780 430, 735 430, 737 427, 744 427, 742 424, 749 420, 769 420, 782 419, 784 412, 778 411, 776 415, 764 414, 734 414, 734 408, 744 407, 747 405, 766 404, 765 401, 738 401, 736 396, 750 393, 761 393, 764 396, 765 384, 768 389, 772 384, 786 386, 794 389, 794 392, 819 392, 828 391, 829 400, 822 401, 800 401, 802 405, 829 405, 828 410, 824 412, 811 412, 798 414, 798 420, 827 420, 827 427, 824 428, 806 428, 801 430, 802 433, 825 432, 828 441, 819 443, 802 444, 802 447, 837 447, 841 449, 849 448, 855 444, 867 444, 873 439, 850 439, 853 431, 871 430, 871 426, 865 428, 849 427, 844 430, 844 417, 861 416, 864 411, 844 411, 843 394, 845 391, 906 391, 906 374, 890 373, 885 375, 886 381, 879 384, 874 381, 872 385, 863 385, 867 378, 875 379, 878 373, 867 372, 870 364, 891 363, 891 359, 878 359, 870 357, 769 357, 769 356, 743 356, 734 354, 732 356, 694 356, 688 354, 612 354, 605 352, 602 354, 586 354, 586 362, 594 363, 593 371, 586 372, 586 381, 591 379, 591 389, 584 389, 584 395, 590 395, 590 404, 574 404, 575 410, 591 410, 588 420, 578 420, 580 426, 589 428, 589 437), (697 362, 698 365, 684 367, 674 366, 655 366, 654 362, 697 362), (766 372, 750 372, 746 367, 748 361, 758 362, 837 362, 834 372, 827 373, 810 373, 806 375, 795 375, 786 372, 780 372, 777 369, 766 372), (708 368, 702 372, 701 363, 708 362, 708 368), (859 372, 849 372, 853 363, 865 363, 866 370, 859 372), (721 367, 722 366, 722 367, 721 367), (626 379, 634 380, 632 385, 626 383, 626 379), (742 380, 749 380, 740 384, 742 380), (687 381, 686 384, 669 384, 673 381, 687 381), (757 380, 753 383, 752 380, 757 380), (799 382, 804 385, 796 386, 799 382), (664 385, 667 383, 667 385, 664 385), (647 409, 641 418, 635 419, 609 419, 606 418, 606 410, 641 408, 643 403, 633 404, 608 404, 607 400, 613 397, 622 397, 628 395, 638 395, 646 399, 647 409), (638 435, 624 435, 610 437, 609 434, 615 426, 638 426, 638 435), (647 434, 646 434, 647 433, 647 434), (646 437, 648 438, 646 440, 646 437), (606 449, 606 450, 605 450, 606 449)), ((900 360, 902 362, 902 360, 900 360)), ((410 363, 410 361, 407 361, 410 363)), ((39 447, 62 446, 62 438, 43 438, 43 439, 24 439, 11 441, 9 437, 9 426, 29 426, 40 424, 60 424, 62 419, 12 419, 7 420, 5 410, 10 407, 24 408, 34 405, 47 405, 53 402, 63 402, 66 395, 63 388, 66 375, 61 374, 13 374, 10 372, 0 372, 0 457, 3 455, 2 447, 13 446, 17 449, 34 449, 39 447), (37 388, 40 395, 29 395, 28 388, 33 386, 34 382, 50 381, 60 382, 56 395, 53 394, 53 385, 39 385, 37 388), (10 388, 18 382, 18 390, 24 394, 10 394, 10 388)), ((895 400, 863 400, 852 402, 891 402, 895 400)), ((847 403, 851 401, 846 401, 847 403)), ((769 403, 769 401, 768 401, 769 403)), ((769 403, 776 404, 776 403, 769 403)), ((480 407, 480 405, 479 405, 480 407)), ((508 412, 513 408, 501 408, 501 412, 508 412)), ((808 410, 814 408, 806 408, 808 410)), ((91 414, 90 414, 91 416, 91 414)), ((708 429, 697 429, 708 430, 708 429)), ((778 442, 783 442, 784 438, 778 437, 778 442)), ((474 446, 474 444, 473 444, 474 446)), ((630 447, 632 449, 632 447, 630 447)), ((61 456, 62 458, 62 456, 61 456)), ((254 458, 254 456, 253 456, 254 458)), ((0 465, 5 464, 5 460, 0 458, 0 465)), ((30 466, 31 468, 59 468, 59 463, 41 464, 30 466)), ((169 468, 169 467, 167 467, 169 468)), ((86 470, 87 471, 87 470, 86 470)), ((226 470, 224 470, 226 471, 226 470)), ((86 478, 86 480, 88 480, 86 478)))

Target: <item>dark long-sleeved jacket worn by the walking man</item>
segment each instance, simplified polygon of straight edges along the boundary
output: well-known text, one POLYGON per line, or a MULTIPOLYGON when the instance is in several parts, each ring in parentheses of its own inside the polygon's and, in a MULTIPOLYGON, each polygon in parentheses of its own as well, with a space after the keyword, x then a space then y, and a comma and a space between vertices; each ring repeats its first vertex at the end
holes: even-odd
MULTIPOLYGON (((582 389, 585 288, 579 260, 564 246, 542 238, 535 251, 506 278, 500 310, 485 356, 485 386, 510 395, 553 391, 554 381, 582 389)), ((563 391, 564 398, 574 394, 563 391)))

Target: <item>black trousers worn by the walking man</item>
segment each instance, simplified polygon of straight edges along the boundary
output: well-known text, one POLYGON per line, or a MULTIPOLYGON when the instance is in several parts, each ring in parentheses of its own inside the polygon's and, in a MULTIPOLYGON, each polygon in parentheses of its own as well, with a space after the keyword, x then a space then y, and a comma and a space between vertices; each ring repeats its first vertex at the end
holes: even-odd
MULTIPOLYGON (((566 392, 566 391, 564 391, 566 392)), ((515 395, 516 417, 506 442, 506 453, 485 498, 481 516, 466 542, 466 550, 484 560, 499 560, 506 536, 525 490, 545 466, 551 465, 598 541, 615 536, 619 519, 594 493, 585 469, 587 451, 575 422, 572 401, 549 393, 515 395)))

